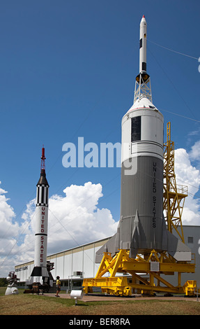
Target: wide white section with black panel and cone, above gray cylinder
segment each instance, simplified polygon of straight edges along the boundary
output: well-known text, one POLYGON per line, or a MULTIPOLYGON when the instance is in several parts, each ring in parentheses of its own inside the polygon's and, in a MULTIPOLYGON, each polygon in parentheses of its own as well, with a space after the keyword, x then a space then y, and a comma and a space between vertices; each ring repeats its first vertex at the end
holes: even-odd
POLYGON ((144 155, 163 160, 163 124, 162 113, 151 101, 146 97, 138 99, 122 119, 121 162, 144 155), (132 119, 139 117, 139 123, 134 125, 132 119), (134 140, 132 134, 137 128, 138 137, 134 140))

